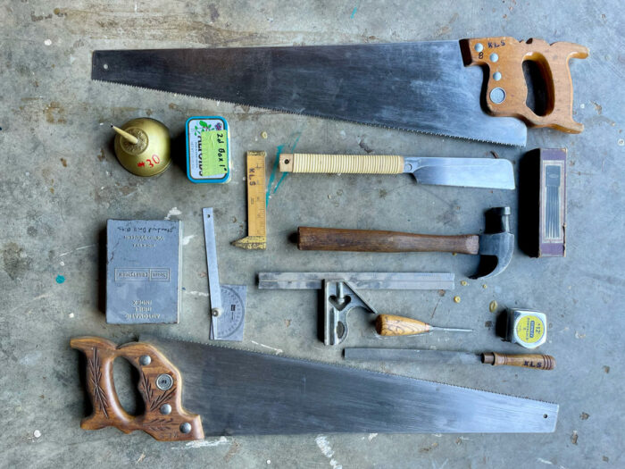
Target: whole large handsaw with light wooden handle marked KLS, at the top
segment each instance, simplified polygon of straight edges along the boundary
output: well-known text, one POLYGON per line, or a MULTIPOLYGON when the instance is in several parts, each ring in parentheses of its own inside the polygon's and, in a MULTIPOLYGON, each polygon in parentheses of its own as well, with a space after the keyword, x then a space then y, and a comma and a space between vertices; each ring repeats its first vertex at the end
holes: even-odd
POLYGON ((505 37, 109 50, 94 52, 91 76, 286 113, 524 146, 526 124, 583 129, 572 118, 569 60, 587 54, 577 44, 505 37), (536 63, 542 75, 540 115, 526 103, 525 61, 536 63))

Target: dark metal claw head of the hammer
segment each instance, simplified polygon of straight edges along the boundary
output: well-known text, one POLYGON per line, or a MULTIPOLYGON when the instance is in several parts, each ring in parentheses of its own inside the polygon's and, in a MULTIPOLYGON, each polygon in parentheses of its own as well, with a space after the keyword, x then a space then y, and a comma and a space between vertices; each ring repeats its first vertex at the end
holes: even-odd
POLYGON ((479 269, 471 278, 493 277, 510 264, 514 235, 510 232, 510 207, 494 207, 486 213, 486 229, 479 236, 479 269))

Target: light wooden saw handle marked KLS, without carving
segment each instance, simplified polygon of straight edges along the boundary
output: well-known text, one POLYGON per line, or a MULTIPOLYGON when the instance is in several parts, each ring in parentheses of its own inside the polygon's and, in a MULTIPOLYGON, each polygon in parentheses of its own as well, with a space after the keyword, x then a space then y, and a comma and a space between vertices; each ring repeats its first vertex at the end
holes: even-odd
POLYGON ((530 127, 551 127, 568 133, 584 130, 582 124, 573 121, 569 60, 585 59, 587 47, 571 42, 550 45, 542 39, 517 41, 508 37, 462 39, 460 42, 465 65, 488 68, 486 104, 490 113, 522 119, 530 127), (545 115, 537 115, 526 105, 528 88, 523 74, 526 60, 537 63, 546 82, 545 115))

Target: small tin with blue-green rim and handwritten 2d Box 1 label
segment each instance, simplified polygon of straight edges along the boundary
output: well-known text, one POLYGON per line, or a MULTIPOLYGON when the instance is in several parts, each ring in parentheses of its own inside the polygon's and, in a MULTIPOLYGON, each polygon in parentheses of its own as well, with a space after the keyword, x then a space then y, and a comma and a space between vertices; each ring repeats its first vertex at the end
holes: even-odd
POLYGON ((224 184, 230 180, 230 135, 228 122, 220 116, 189 117, 187 178, 191 182, 224 184))

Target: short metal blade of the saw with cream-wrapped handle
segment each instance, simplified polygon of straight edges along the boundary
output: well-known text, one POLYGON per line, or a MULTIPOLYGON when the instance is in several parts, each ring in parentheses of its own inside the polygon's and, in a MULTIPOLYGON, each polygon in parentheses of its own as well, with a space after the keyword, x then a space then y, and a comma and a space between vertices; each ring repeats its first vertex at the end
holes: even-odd
POLYGON ((404 158, 404 172, 420 184, 464 188, 514 188, 514 170, 508 160, 489 158, 404 158))

